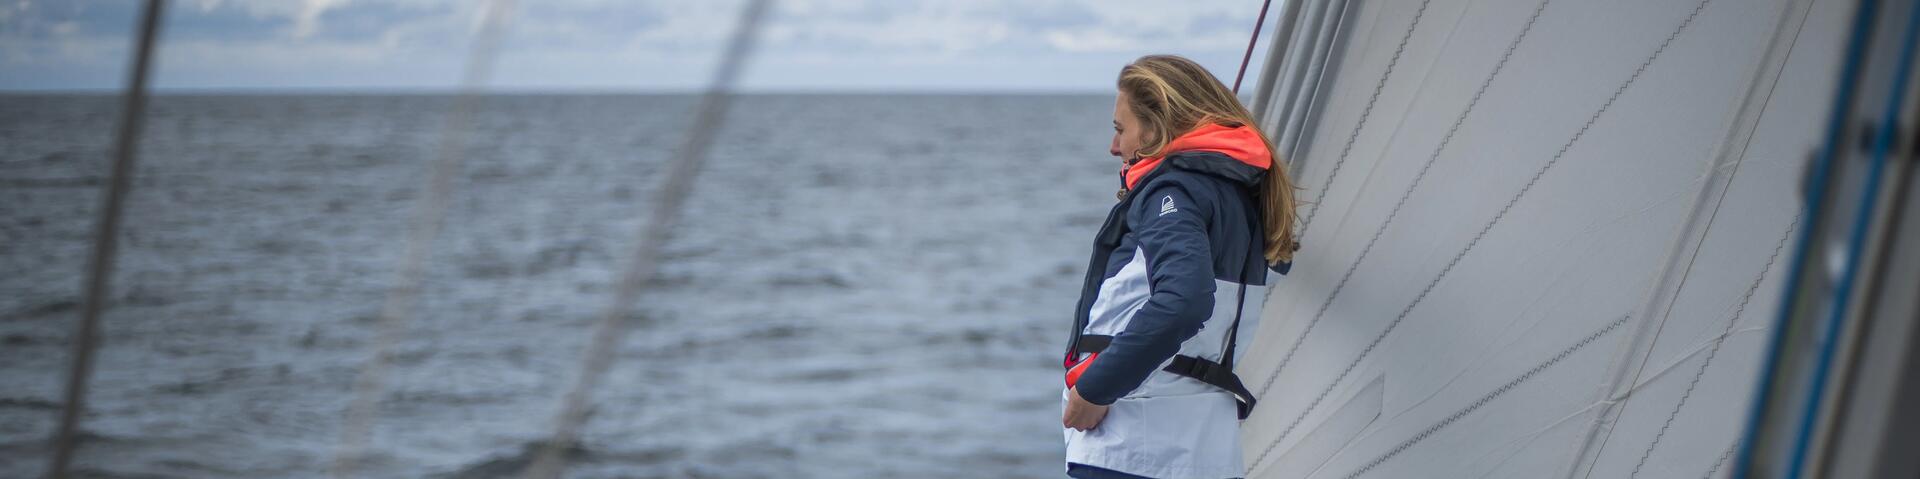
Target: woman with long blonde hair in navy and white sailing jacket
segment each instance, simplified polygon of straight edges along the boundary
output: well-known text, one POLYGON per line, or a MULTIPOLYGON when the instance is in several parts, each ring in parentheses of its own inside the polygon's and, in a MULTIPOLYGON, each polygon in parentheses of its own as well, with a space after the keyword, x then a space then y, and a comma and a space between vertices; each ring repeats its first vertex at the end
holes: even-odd
POLYGON ((1252 115, 1192 60, 1119 71, 1119 204, 1094 239, 1068 346, 1069 477, 1240 477, 1254 398, 1233 375, 1265 267, 1296 250, 1286 169, 1252 115))

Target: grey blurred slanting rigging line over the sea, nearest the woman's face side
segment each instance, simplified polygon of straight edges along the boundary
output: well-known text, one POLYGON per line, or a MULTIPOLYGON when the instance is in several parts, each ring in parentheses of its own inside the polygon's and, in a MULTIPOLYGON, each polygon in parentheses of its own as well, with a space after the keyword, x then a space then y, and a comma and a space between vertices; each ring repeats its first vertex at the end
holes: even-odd
POLYGON ((726 119, 733 83, 739 77, 747 56, 753 52, 755 38, 760 31, 760 19, 766 17, 768 4, 768 0, 749 0, 741 10, 733 37, 722 52, 720 67, 714 71, 707 92, 701 96, 693 125, 687 129, 687 139, 682 142, 680 150, 676 150, 672 164, 668 165, 668 175, 660 187, 659 198, 653 202, 653 212, 647 217, 649 221, 641 223, 641 231, 634 242, 634 256, 626 265, 626 271, 620 275, 620 285, 614 290, 612 304, 607 306, 599 325, 593 327, 593 342, 582 358, 578 383, 574 383, 574 389, 566 392, 561 412, 555 417, 553 437, 540 450, 540 456, 534 458, 534 464, 526 469, 526 477, 551 479, 559 477, 561 471, 566 469, 563 452, 572 448, 580 429, 586 425, 589 394, 612 366, 620 339, 626 337, 628 325, 632 323, 628 315, 634 300, 639 296, 639 287, 653 277, 659 267, 660 246, 672 239, 672 229, 680 219, 682 204, 685 204, 687 196, 693 192, 693 177, 699 173, 699 167, 707 158, 707 148, 712 146, 716 131, 726 119))

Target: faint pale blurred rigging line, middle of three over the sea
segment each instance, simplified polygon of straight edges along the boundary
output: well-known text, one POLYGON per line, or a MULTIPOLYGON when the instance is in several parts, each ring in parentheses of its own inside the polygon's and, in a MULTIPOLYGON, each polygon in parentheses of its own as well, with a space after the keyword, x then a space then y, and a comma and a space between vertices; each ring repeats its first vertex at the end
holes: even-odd
POLYGON ((507 29, 509 15, 513 13, 513 0, 490 0, 484 6, 480 31, 474 33, 474 40, 467 52, 467 69, 461 77, 461 92, 453 100, 453 110, 447 112, 447 119, 440 129, 440 144, 436 146, 436 158, 432 171, 428 173, 426 192, 415 202, 413 219, 407 229, 407 250, 399 258, 399 267, 394 273, 394 287, 388 289, 386 302, 380 306, 380 325, 374 335, 372 350, 367 364, 361 366, 359 377, 353 383, 353 398, 348 404, 346 423, 340 429, 340 444, 334 450, 334 477, 357 477, 361 456, 367 450, 367 442, 372 437, 374 416, 378 416, 380 396, 386 389, 386 369, 390 364, 392 348, 399 344, 401 337, 407 333, 407 323, 420 298, 420 283, 426 277, 426 264, 432 256, 432 242, 440 237, 442 225, 445 225, 447 204, 453 196, 453 175, 461 171, 467 162, 467 154, 461 152, 465 144, 467 129, 474 110, 480 104, 480 90, 493 69, 493 60, 499 54, 501 35, 507 29))

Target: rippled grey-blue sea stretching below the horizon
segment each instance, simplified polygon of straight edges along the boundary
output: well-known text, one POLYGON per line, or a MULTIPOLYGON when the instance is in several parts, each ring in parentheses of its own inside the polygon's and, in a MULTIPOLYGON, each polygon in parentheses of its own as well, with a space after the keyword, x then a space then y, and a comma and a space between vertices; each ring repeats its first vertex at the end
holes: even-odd
MULTIPOLYGON (((161 94, 77 477, 518 477, 691 127, 691 94, 161 94), (463 113, 465 112, 465 113, 463 113), (380 306, 457 156, 417 308, 380 306)), ((1112 96, 745 94, 568 477, 1060 477, 1060 350, 1114 202, 1112 96)), ((119 113, 0 96, 0 477, 63 406, 119 113)))

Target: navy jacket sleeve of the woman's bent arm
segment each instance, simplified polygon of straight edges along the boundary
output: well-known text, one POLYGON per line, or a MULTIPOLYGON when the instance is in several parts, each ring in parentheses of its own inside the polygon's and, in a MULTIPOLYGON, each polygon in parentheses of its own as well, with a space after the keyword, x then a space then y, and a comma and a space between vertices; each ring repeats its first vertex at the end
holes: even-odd
POLYGON ((1139 389, 1213 312, 1213 254, 1206 233, 1212 204, 1198 204, 1177 183, 1146 194, 1127 221, 1146 252, 1152 296, 1081 373, 1075 389, 1092 404, 1112 404, 1139 389))

